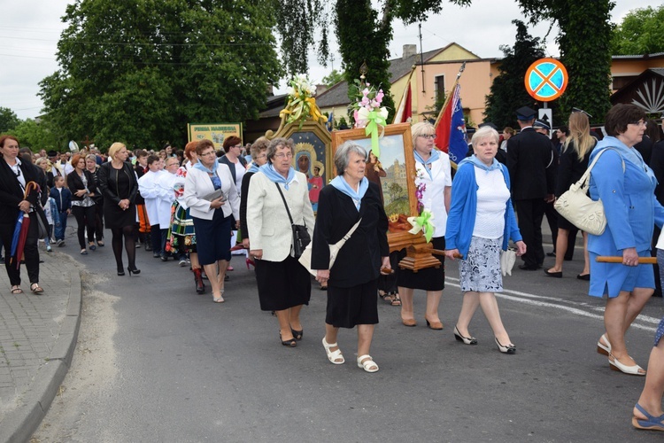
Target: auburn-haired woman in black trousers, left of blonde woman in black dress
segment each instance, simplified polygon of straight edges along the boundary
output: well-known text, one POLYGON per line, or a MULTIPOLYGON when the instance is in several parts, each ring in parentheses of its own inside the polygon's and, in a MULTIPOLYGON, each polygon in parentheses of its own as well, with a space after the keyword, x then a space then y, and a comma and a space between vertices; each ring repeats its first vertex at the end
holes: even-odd
POLYGON ((72 213, 76 219, 76 234, 81 246, 81 254, 88 254, 85 248, 85 231, 88 230, 90 251, 95 251, 95 226, 97 225, 95 200, 92 197, 97 190, 95 177, 85 167, 85 157, 76 154, 72 159, 73 172, 67 175, 67 186, 72 191, 72 213))

